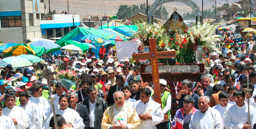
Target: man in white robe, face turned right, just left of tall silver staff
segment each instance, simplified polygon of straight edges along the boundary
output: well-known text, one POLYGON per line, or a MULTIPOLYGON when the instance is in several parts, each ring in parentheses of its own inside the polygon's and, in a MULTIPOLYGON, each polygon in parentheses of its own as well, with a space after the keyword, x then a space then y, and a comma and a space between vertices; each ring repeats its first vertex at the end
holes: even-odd
POLYGON ((33 95, 29 98, 31 103, 36 104, 39 107, 39 112, 43 118, 41 120, 43 121, 42 123, 42 129, 45 129, 46 127, 46 121, 49 118, 51 114, 51 107, 44 97, 41 97, 43 94, 43 86, 40 85, 37 82, 34 82, 33 85, 31 86, 32 93, 33 95))

